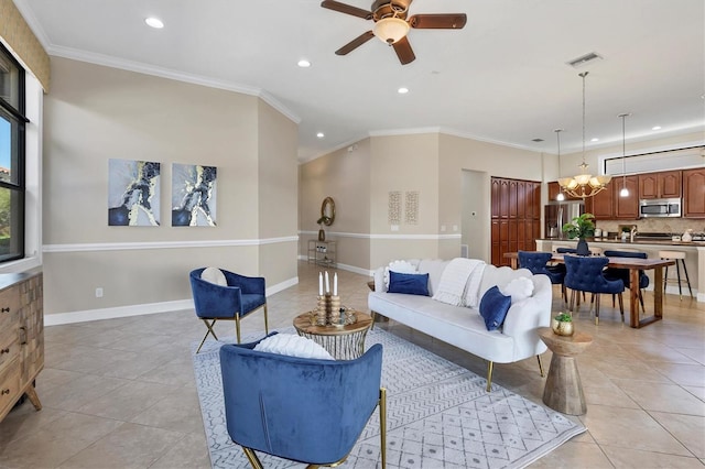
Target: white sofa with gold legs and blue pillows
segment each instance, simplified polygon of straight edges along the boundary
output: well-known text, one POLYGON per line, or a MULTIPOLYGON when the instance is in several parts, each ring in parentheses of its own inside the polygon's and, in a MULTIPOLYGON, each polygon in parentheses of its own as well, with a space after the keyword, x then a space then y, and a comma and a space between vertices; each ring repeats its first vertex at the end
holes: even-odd
POLYGON ((487 360, 488 392, 491 390, 494 362, 511 363, 536 356, 543 375, 539 356, 546 350, 546 346, 539 338, 536 329, 551 324, 553 293, 547 276, 533 275, 527 269, 485 265, 479 298, 490 287, 498 285, 501 288, 518 276, 530 279, 534 285, 530 297, 512 303, 503 326, 499 330, 489 331, 479 314, 479 306, 453 306, 432 298, 438 288, 442 273, 451 261, 406 262, 416 266, 419 273, 429 273, 430 296, 388 293, 384 283, 386 268, 379 268, 375 271, 375 291, 368 297, 372 314, 383 315, 487 360))

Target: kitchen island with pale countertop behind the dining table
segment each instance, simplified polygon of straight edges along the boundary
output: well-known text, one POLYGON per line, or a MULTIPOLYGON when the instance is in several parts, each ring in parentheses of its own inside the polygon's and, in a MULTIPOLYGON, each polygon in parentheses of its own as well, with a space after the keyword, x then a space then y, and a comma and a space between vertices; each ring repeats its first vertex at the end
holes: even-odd
MULTIPOLYGON (((646 252, 649 259, 658 259, 659 251, 673 250, 685 252, 685 265, 687 268, 688 276, 691 277, 691 286, 693 288, 693 295, 698 302, 705 302, 705 241, 673 241, 669 239, 653 239, 648 237, 634 237, 633 241, 609 238, 587 238, 587 244, 594 248, 600 248, 603 251, 607 250, 628 250, 628 251, 641 251, 646 252), (646 239, 644 239, 646 238, 646 239)), ((556 248, 575 248, 577 240, 558 239, 558 238, 544 238, 536 240, 536 251, 551 252, 556 248)), ((672 268, 675 271, 675 268, 672 268)), ((672 273, 669 271, 669 276, 672 277, 672 273)), ((653 290, 654 279, 653 272, 647 271, 649 275, 649 286, 647 290, 653 290)), ((685 282, 685 275, 681 272, 681 277, 685 282)), ((684 286, 685 287, 685 286, 684 286)), ((687 287, 685 287, 687 292, 687 287)), ((666 293, 679 293, 677 285, 670 283, 666 286, 666 293)), ((687 293, 683 296, 687 298, 687 293)))

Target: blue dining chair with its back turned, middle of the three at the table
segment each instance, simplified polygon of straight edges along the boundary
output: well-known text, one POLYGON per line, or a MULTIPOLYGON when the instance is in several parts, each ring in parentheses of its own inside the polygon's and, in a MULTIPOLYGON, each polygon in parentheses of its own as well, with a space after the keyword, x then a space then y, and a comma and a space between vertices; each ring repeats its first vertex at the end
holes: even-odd
POLYGON ((565 255, 565 287, 571 288, 571 306, 573 310, 575 304, 575 292, 587 292, 593 294, 595 304, 595 324, 599 324, 599 298, 600 294, 619 295, 619 312, 621 320, 625 320, 625 304, 622 293, 625 283, 621 280, 607 280, 604 269, 609 263, 609 259, 604 257, 582 257, 565 255))

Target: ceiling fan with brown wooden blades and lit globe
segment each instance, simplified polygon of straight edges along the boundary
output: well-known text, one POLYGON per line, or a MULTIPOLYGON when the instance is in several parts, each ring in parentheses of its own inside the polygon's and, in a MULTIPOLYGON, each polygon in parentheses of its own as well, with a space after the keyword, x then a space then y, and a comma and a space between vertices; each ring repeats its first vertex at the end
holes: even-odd
POLYGON ((324 0, 321 7, 335 10, 352 17, 372 20, 375 26, 343 47, 338 48, 336 55, 346 55, 361 46, 373 36, 394 47, 394 52, 402 65, 413 62, 416 56, 406 39, 410 28, 416 30, 460 30, 467 22, 465 13, 447 14, 414 14, 406 18, 409 6, 413 0, 375 0, 370 11, 361 8, 340 3, 335 0, 324 0))

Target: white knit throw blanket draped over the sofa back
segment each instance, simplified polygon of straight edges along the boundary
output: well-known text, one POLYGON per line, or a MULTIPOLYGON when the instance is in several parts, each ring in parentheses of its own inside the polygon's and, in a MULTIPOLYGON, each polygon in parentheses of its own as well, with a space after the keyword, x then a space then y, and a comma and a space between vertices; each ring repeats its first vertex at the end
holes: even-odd
POLYGON ((476 306, 477 291, 484 269, 485 261, 465 258, 453 259, 441 274, 438 291, 433 295, 433 299, 455 306, 466 306, 467 299, 469 299, 475 304, 468 306, 476 306), (466 292, 475 293, 466 299, 468 296, 466 292))

